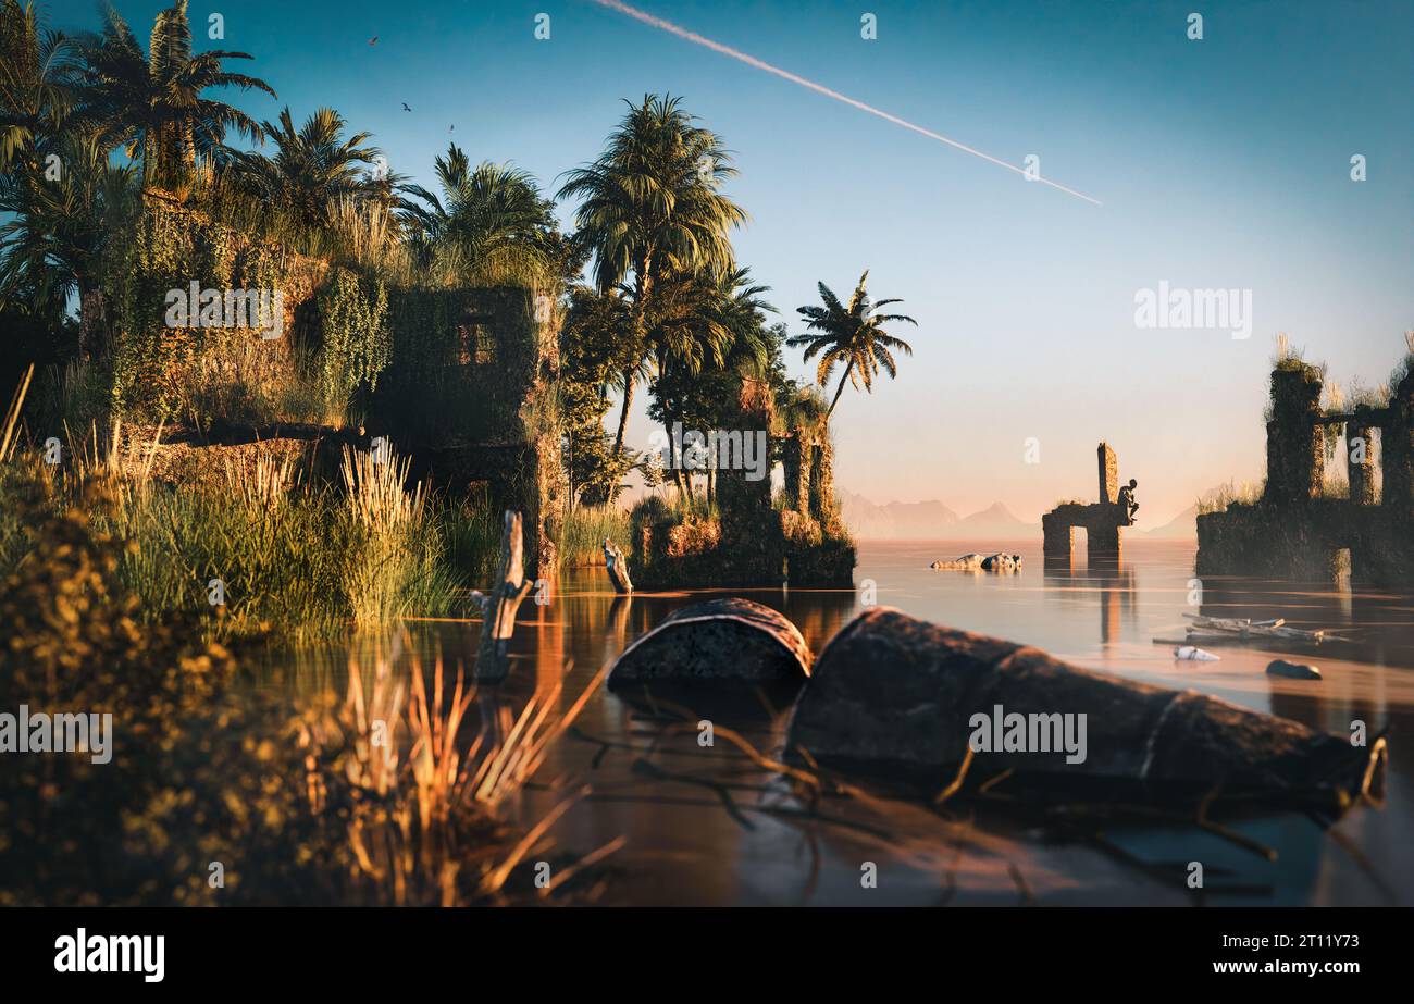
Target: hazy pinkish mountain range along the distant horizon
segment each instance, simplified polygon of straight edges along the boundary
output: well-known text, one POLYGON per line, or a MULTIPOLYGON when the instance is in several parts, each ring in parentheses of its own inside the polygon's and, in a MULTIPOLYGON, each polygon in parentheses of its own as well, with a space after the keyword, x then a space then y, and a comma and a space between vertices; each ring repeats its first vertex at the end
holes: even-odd
MULTIPOLYGON (((863 495, 840 491, 840 512, 858 540, 1019 540, 1041 537, 1041 525, 1018 519, 994 502, 981 512, 959 516, 936 499, 880 505, 863 495)), ((1144 513, 1141 513, 1143 518, 1144 513)), ((1128 535, 1144 540, 1192 540, 1198 536, 1196 506, 1154 529, 1133 526, 1128 535)))

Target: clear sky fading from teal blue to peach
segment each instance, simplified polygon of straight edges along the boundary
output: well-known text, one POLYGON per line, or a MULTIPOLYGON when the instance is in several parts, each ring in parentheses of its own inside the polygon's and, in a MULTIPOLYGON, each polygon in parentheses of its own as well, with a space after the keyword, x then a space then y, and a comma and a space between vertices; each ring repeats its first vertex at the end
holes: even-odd
MULTIPOLYGON (((146 42, 165 4, 116 6, 146 42)), ((233 68, 279 92, 228 99, 257 119, 332 106, 428 187, 455 139, 553 192, 598 156, 625 98, 680 95, 734 151, 727 194, 751 214, 737 255, 792 332, 816 283, 846 297, 865 269, 874 297, 902 297, 889 310, 918 320, 892 332, 915 349, 898 379, 846 390, 833 423, 837 485, 875 502, 967 513, 1001 501, 1034 520, 1094 496, 1106 440, 1154 526, 1261 477, 1275 332, 1342 383, 1383 382, 1403 355, 1410 0, 633 7, 1018 168, 1036 157, 1041 175, 1100 205, 600 0, 189 10, 198 51, 250 52, 233 68), (205 38, 212 13, 219 42, 205 38), (875 38, 861 37, 864 14, 875 38), (1236 290, 1234 303, 1250 291, 1250 335, 1140 327, 1135 297, 1161 281, 1236 290)), ((98 25, 86 1, 45 8, 52 27, 98 25)), ((788 361, 813 375, 797 349, 788 361)), ((649 433, 636 414, 629 444, 646 448, 649 433)))

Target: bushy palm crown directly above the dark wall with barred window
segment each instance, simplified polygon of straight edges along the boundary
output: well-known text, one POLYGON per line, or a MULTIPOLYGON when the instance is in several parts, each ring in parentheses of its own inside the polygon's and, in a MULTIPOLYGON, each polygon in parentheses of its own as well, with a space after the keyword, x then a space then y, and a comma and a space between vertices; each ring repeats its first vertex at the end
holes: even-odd
POLYGON ((455 143, 437 157, 441 198, 420 185, 399 191, 403 223, 423 266, 465 277, 516 274, 544 280, 551 267, 554 215, 534 177, 512 164, 484 161, 475 168, 455 143))

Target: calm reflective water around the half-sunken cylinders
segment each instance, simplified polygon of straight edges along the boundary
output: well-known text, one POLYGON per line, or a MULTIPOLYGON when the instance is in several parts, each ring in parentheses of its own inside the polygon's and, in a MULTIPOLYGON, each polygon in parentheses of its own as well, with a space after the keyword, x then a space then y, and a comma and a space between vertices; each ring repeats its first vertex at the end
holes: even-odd
MULTIPOLYGON (((1131 543, 1117 570, 1045 571, 1039 542, 998 547, 1024 556, 1017 576, 932 571, 928 564, 973 547, 877 542, 860 547, 855 584, 872 580, 880 604, 950 626, 1027 642, 1076 663, 1172 687, 1193 687, 1246 707, 1349 734, 1362 718, 1372 735, 1389 728, 1390 769, 1383 807, 1360 806, 1324 830, 1301 815, 1233 823, 1277 854, 1191 826, 1109 824, 1102 840, 1066 836, 991 805, 953 803, 945 812, 877 792, 803 805, 718 732, 697 744, 696 727, 674 727, 674 708, 635 706, 600 690, 575 730, 560 740, 512 810, 537 819, 588 785, 554 831, 566 851, 588 853, 625 836, 611 861, 607 902, 650 905, 768 904, 1155 904, 1380 905, 1414 902, 1414 597, 1336 593, 1292 584, 1206 580, 1200 611, 1216 617, 1284 617, 1295 626, 1338 629, 1348 641, 1299 653, 1321 682, 1266 676, 1275 658, 1258 648, 1209 646, 1213 663, 1178 662, 1191 605, 1193 549, 1131 543), (1203 898, 1184 885, 1186 864, 1206 871, 1203 898), (877 888, 863 888, 865 863, 877 888)), ((855 591, 730 591, 785 612, 812 649, 858 611, 855 591)), ((515 667, 495 699, 515 708, 536 690, 564 684, 571 703, 628 642, 677 607, 720 591, 638 594, 618 600, 602 568, 570 571, 549 607, 522 607, 515 667)), ((423 622, 411 643, 441 652, 454 669, 474 659, 479 624, 423 622)), ((355 643, 372 662, 379 639, 355 643)), ((1285 653, 1290 658, 1290 653, 1285 653)), ((294 662, 296 689, 338 687, 344 652, 273 656, 294 662)), ((710 717, 756 749, 781 752, 789 707, 718 706, 694 700, 691 720, 710 717)), ((684 710, 686 713, 686 710, 684 710)), ((946 782, 943 779, 942 783, 946 782)))

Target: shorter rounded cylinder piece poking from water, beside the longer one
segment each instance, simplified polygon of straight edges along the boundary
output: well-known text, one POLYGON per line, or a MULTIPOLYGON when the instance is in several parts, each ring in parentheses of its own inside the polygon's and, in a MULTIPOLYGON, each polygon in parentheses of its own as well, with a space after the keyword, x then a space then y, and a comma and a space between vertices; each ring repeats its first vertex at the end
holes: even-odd
POLYGON ((785 617, 749 600, 711 600, 674 611, 624 649, 609 686, 720 680, 800 683, 810 648, 785 617))

